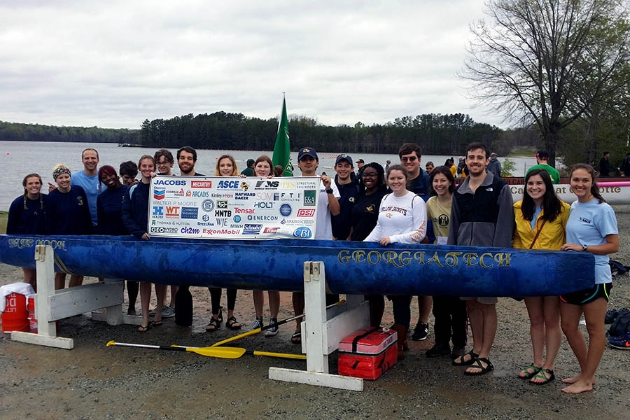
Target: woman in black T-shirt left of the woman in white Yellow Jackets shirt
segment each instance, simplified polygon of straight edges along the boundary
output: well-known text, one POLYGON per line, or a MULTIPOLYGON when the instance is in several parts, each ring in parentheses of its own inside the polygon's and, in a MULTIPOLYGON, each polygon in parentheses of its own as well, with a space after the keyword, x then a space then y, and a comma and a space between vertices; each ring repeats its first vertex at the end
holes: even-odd
MULTIPOLYGON (((377 162, 363 166, 359 179, 359 193, 351 211, 351 241, 363 241, 374 230, 379 218, 379 205, 387 193, 385 171, 377 162)), ((381 326, 385 310, 385 297, 382 295, 365 295, 370 302, 370 325, 381 326)))

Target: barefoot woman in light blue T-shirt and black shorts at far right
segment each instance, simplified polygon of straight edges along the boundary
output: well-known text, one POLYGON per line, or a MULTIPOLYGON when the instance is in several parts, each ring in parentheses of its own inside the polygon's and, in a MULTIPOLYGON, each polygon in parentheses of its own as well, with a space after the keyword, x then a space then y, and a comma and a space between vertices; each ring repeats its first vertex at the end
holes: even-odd
POLYGON ((566 244, 560 250, 595 255, 594 286, 560 295, 562 331, 581 370, 575 377, 562 379, 569 384, 562 391, 582 393, 593 389, 595 371, 606 345, 604 318, 612 288, 608 254, 619 251, 619 231, 615 211, 599 193, 593 167, 582 163, 573 165, 570 169, 570 190, 577 201, 571 204, 566 224, 566 244), (578 328, 582 314, 589 332, 588 346, 578 328))

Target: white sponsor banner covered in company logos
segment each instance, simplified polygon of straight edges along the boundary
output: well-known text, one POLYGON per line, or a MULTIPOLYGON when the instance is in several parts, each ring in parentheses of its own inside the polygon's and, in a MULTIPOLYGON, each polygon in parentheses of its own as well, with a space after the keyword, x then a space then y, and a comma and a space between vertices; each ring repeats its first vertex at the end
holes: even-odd
POLYGON ((153 236, 313 239, 318 177, 158 176, 151 182, 153 236))

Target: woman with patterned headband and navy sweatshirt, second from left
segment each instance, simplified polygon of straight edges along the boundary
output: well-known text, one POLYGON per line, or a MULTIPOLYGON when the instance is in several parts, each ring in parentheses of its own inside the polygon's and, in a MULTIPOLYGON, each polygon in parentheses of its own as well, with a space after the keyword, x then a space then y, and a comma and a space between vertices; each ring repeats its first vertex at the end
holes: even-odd
MULTIPOLYGON (((83 188, 72 185, 70 169, 65 165, 55 167, 52 171, 52 179, 57 183, 57 188, 48 194, 46 203, 48 235, 90 235, 92 218, 83 188)), ((72 274, 68 286, 80 286, 82 282, 83 276, 72 274)), ((65 286, 66 274, 55 273, 55 290, 65 286)))

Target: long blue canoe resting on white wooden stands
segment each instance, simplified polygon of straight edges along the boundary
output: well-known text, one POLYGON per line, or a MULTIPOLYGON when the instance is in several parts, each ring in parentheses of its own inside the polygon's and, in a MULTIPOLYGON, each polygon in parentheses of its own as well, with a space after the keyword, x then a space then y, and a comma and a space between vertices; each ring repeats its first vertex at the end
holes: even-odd
POLYGON ((302 290, 305 261, 323 261, 332 293, 559 295, 594 284, 590 253, 352 241, 0 235, 0 262, 35 267, 37 244, 73 274, 189 286, 302 290))

